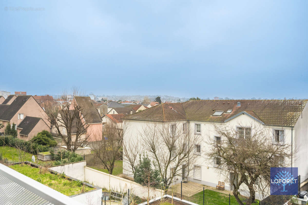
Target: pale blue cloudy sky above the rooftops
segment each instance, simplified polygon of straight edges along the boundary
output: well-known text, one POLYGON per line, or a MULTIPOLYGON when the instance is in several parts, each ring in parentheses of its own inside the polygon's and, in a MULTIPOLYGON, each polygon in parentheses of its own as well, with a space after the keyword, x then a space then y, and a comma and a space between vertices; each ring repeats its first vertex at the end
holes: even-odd
POLYGON ((305 0, 0 4, 2 90, 308 97, 305 0))

